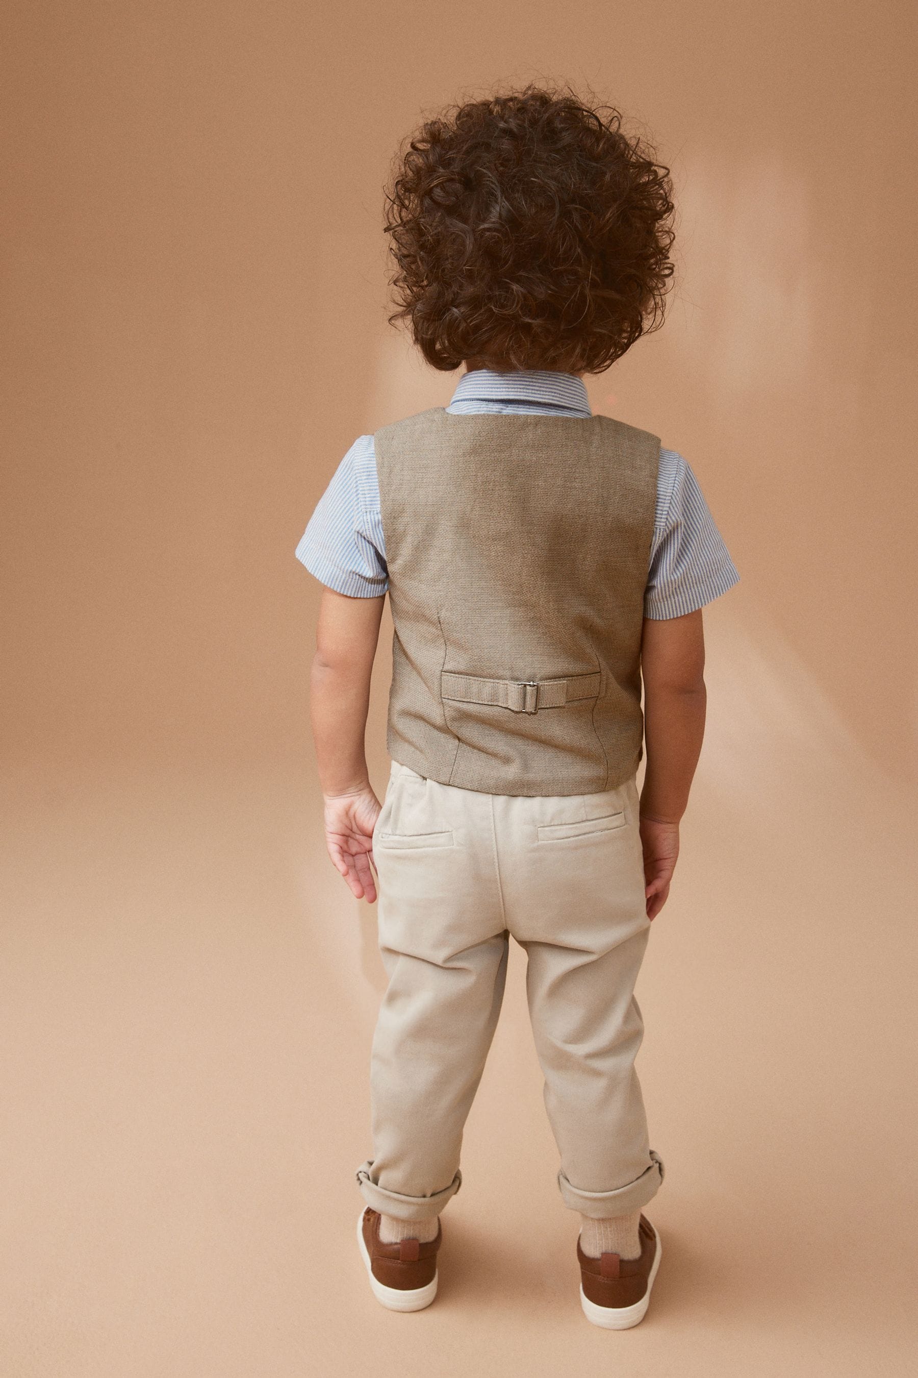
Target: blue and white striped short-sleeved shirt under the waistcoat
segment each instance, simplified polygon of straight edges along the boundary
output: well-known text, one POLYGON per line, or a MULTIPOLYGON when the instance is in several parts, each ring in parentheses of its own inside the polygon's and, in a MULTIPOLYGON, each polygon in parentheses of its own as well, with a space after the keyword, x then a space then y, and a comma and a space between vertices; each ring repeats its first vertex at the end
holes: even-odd
MULTIPOLYGON (((586 389, 574 373, 484 368, 462 375, 446 409, 592 415, 586 389)), ((372 435, 355 440, 339 464, 296 558, 329 588, 352 598, 378 598, 388 588, 372 435)), ((681 617, 727 593, 738 579, 695 475, 681 455, 661 448, 644 616, 681 617)))

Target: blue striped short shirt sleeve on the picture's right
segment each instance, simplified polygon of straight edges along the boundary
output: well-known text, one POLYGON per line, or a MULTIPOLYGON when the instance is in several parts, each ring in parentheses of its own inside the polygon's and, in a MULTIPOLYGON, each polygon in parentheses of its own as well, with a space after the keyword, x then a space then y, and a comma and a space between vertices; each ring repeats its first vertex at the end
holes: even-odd
POLYGON ((739 582, 698 480, 681 455, 661 449, 657 521, 644 616, 683 617, 739 582))

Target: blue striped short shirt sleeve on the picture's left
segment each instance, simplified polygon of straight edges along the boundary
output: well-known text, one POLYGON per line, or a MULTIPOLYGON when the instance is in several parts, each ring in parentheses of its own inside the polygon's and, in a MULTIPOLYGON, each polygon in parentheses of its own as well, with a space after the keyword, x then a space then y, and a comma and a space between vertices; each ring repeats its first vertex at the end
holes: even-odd
POLYGON ((378 598, 388 588, 372 435, 361 435, 336 469, 296 558, 321 583, 351 598, 378 598))

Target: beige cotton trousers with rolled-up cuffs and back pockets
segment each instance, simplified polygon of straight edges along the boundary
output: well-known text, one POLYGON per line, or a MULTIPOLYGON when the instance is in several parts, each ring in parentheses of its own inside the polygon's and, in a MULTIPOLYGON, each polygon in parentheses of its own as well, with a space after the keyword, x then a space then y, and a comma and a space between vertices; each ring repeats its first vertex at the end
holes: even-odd
POLYGON ((663 1164, 648 1145, 633 988, 647 947, 634 780, 599 794, 491 795, 392 762, 373 831, 389 984, 373 1039, 366 1202, 401 1220, 461 1184, 462 1129, 504 994, 526 988, 567 1206, 639 1210, 663 1164))

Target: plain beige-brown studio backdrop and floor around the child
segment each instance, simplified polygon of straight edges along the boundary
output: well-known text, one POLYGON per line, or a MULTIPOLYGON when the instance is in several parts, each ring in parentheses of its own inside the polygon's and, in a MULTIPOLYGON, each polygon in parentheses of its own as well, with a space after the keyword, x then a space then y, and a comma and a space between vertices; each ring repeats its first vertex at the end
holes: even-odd
POLYGON ((84 0, 4 29, 4 1374, 912 1371, 912 8, 84 0), (668 324, 589 391, 685 455, 742 575, 639 983, 666 1258, 623 1335, 579 1313, 519 952, 440 1297, 366 1288, 384 977, 323 854, 293 558, 356 435, 456 383, 385 324, 389 157, 530 79, 673 169, 668 324))

